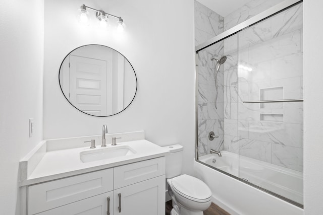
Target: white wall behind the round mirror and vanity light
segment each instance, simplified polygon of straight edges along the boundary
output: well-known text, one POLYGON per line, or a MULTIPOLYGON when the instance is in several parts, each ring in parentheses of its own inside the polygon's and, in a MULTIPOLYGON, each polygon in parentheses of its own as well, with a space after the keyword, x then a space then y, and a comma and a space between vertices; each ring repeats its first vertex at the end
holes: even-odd
POLYGON ((107 124, 109 133, 145 130, 146 139, 160 146, 182 144, 184 172, 193 174, 193 25, 194 2, 187 0, 45 1, 44 138, 101 134, 102 124, 107 124), (124 36, 80 26, 75 16, 83 3, 121 16, 127 24, 124 36), (137 95, 122 113, 89 116, 62 95, 58 82, 61 62, 72 49, 85 44, 112 47, 134 67, 137 95))

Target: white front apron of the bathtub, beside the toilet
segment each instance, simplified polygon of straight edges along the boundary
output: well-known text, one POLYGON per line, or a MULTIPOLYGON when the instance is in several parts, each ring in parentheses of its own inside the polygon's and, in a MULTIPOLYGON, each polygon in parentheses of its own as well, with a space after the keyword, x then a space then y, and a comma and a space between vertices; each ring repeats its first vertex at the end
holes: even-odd
POLYGON ((194 161, 194 176, 209 186, 212 201, 232 215, 303 215, 302 208, 196 161, 194 161))

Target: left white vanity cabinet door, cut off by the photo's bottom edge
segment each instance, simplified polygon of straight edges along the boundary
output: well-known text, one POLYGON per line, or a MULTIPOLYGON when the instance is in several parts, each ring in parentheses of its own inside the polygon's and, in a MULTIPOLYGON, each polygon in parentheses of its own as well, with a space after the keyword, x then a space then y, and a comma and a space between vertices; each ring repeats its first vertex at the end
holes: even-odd
POLYGON ((113 191, 46 210, 37 215, 109 215, 107 208, 110 208, 110 215, 113 215, 113 191))

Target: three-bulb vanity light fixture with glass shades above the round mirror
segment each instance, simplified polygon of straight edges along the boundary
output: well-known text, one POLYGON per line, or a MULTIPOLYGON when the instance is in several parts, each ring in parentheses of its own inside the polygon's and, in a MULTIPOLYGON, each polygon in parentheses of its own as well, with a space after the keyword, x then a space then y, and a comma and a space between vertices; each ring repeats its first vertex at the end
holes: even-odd
POLYGON ((94 8, 90 8, 86 5, 81 5, 80 9, 78 10, 78 20, 81 24, 83 25, 89 25, 89 20, 90 20, 90 16, 89 16, 89 12, 87 9, 91 9, 93 11, 96 12, 96 19, 98 20, 99 26, 100 28, 106 28, 108 26, 108 22, 109 22, 109 16, 117 18, 117 31, 118 32, 123 32, 124 28, 125 28, 125 23, 123 22, 123 19, 121 17, 117 17, 115 15, 112 14, 107 14, 104 11, 99 11, 96 10, 94 8))

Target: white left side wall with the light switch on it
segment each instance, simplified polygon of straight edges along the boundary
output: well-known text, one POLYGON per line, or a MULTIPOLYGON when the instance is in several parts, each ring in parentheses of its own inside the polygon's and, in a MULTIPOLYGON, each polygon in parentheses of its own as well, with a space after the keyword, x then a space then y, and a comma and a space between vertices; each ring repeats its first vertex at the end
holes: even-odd
POLYGON ((21 214, 19 160, 42 139, 43 7, 43 0, 0 3, 1 214, 21 214))

